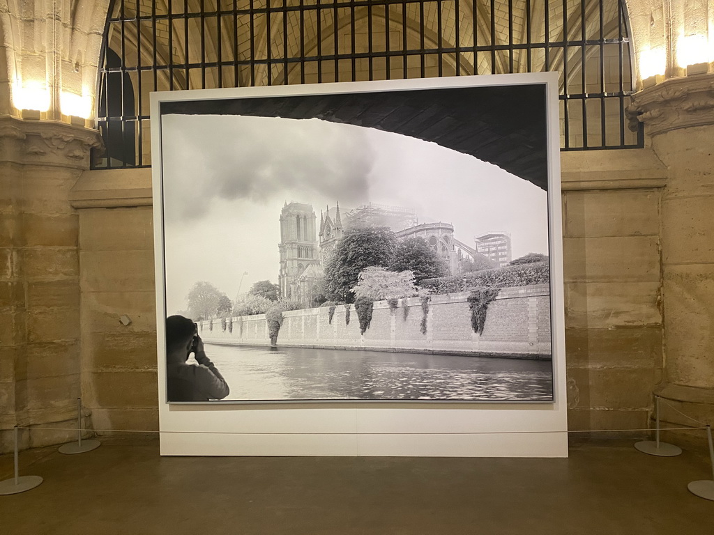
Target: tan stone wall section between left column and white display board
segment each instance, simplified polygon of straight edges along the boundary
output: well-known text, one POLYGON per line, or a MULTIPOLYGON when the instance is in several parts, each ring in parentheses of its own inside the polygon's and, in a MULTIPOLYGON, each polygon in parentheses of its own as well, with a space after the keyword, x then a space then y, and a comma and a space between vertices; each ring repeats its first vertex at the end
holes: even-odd
POLYGON ((96 429, 158 429, 151 170, 89 171, 79 213, 81 380, 96 429), (131 320, 124 325, 119 319, 131 320))

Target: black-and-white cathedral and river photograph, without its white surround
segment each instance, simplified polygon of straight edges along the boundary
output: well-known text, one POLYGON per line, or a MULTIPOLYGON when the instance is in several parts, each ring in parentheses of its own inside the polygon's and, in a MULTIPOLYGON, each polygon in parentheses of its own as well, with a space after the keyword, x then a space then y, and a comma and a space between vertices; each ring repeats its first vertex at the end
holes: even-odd
POLYGON ((545 85, 358 85, 161 103, 166 399, 553 402, 545 85))

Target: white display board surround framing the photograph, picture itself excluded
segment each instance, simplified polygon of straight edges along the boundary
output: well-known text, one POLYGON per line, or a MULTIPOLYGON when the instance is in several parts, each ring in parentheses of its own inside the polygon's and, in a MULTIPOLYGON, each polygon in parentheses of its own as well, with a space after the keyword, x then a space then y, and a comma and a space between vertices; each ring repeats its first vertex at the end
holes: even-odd
POLYGON ((169 455, 426 455, 566 457, 565 327, 560 214, 558 74, 462 76, 380 82, 271 86, 151 95, 156 250, 157 370, 161 453, 169 455), (166 397, 166 287, 162 103, 236 98, 498 88, 542 85, 547 116, 550 340, 553 396, 547 402, 416 400, 252 400, 169 403, 166 397))

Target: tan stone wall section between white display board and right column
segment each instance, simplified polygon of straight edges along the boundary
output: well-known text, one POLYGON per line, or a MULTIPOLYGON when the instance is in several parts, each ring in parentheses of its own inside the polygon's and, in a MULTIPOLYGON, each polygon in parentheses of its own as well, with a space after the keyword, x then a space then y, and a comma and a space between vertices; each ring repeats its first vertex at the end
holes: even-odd
POLYGON ((660 198, 648 149, 562 153, 570 429, 648 427, 662 377, 660 198))

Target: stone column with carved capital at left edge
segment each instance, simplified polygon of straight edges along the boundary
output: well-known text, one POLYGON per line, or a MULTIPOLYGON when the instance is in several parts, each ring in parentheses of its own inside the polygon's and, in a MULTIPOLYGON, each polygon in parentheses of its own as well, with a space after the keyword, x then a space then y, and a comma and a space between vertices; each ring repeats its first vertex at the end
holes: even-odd
MULTIPOLYGON (((74 427, 79 370, 79 218, 69 190, 96 131, 0 116, 0 452, 14 425, 74 427)), ((23 447, 74 432, 22 434, 23 447)))

